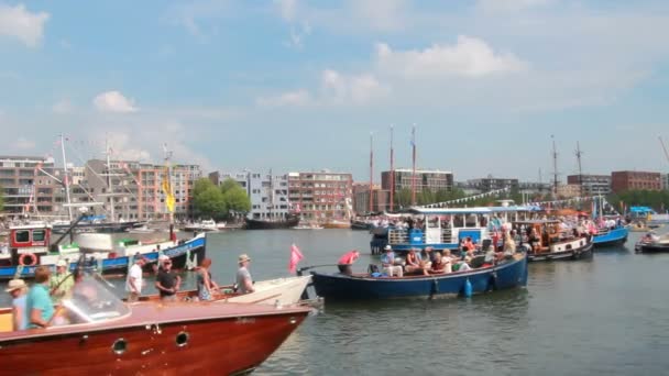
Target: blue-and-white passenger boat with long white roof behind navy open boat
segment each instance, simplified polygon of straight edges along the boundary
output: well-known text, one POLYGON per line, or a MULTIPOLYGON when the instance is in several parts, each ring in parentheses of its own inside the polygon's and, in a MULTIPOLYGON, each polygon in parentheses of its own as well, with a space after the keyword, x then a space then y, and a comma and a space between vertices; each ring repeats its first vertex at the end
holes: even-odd
POLYGON ((476 207, 410 210, 409 228, 391 226, 372 231, 372 254, 382 253, 390 244, 394 251, 431 246, 436 250, 457 250, 464 237, 482 244, 491 233, 501 231, 506 223, 529 219, 538 207, 476 207))

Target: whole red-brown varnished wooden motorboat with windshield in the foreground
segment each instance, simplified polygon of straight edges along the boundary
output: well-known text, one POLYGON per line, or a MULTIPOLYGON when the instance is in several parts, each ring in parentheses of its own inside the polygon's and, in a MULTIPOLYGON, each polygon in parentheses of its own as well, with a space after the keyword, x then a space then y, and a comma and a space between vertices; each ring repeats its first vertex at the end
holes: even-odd
POLYGON ((86 276, 62 301, 58 325, 0 333, 0 356, 15 375, 241 375, 276 351, 310 311, 248 303, 127 305, 86 276))

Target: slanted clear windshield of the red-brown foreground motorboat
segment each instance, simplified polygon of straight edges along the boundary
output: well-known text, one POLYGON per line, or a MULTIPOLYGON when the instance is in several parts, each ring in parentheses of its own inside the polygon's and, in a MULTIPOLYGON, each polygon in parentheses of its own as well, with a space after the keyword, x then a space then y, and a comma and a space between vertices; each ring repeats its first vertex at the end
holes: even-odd
POLYGON ((97 277, 86 275, 75 283, 69 297, 63 299, 70 323, 100 322, 130 312, 97 277))

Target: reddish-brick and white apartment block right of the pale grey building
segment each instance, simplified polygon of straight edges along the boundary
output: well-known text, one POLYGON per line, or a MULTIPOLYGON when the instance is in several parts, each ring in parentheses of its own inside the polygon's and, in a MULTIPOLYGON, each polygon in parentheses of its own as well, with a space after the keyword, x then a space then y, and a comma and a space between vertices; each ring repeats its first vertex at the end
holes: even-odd
POLYGON ((353 176, 329 170, 289 173, 288 197, 305 220, 349 219, 352 211, 353 176))

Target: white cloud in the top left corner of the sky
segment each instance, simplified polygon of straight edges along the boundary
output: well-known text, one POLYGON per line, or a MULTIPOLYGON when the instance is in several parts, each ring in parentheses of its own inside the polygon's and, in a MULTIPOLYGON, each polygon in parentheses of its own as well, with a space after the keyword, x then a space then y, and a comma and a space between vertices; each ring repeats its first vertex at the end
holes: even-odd
POLYGON ((50 14, 31 13, 23 4, 14 7, 0 3, 0 35, 21 40, 28 46, 36 46, 44 34, 44 24, 50 14))

